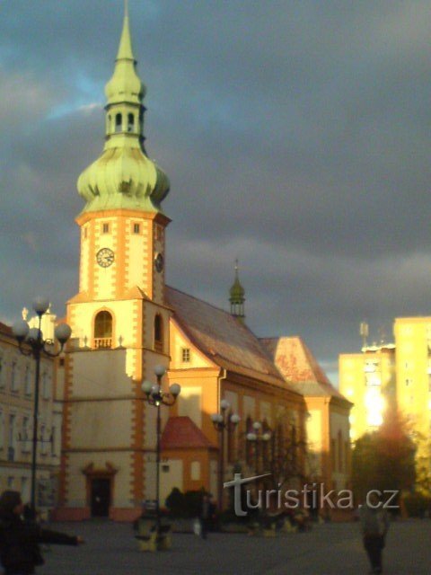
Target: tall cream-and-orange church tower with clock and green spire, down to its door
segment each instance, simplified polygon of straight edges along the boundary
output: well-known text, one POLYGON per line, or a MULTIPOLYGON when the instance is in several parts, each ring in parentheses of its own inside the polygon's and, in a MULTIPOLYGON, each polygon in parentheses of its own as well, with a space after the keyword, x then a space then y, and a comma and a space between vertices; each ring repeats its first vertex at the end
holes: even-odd
MULTIPOLYGON (((60 509, 68 519, 136 517, 154 499, 154 413, 141 382, 169 366, 162 201, 169 180, 145 152, 145 85, 136 74, 127 4, 105 87, 105 142, 80 175, 79 293, 62 398, 60 509)), ((61 379, 59 380, 61 384, 61 379)), ((155 383, 155 382, 154 382, 155 383)), ((60 390, 61 391, 61 390, 60 390)))

